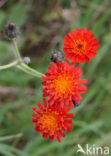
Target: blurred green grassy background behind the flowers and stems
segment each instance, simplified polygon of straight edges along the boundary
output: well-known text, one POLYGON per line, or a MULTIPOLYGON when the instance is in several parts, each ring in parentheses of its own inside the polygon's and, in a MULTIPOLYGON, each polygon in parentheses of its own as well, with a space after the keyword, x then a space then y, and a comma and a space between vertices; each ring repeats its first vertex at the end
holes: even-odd
POLYGON ((62 143, 44 140, 34 131, 32 106, 42 100, 41 80, 14 68, 0 71, 0 156, 74 156, 78 143, 111 148, 111 1, 0 0, 0 65, 14 59, 3 35, 9 22, 20 28, 21 55, 43 73, 50 53, 62 51, 65 34, 75 28, 92 30, 100 48, 96 58, 82 65, 88 90, 72 110, 73 132, 62 143))

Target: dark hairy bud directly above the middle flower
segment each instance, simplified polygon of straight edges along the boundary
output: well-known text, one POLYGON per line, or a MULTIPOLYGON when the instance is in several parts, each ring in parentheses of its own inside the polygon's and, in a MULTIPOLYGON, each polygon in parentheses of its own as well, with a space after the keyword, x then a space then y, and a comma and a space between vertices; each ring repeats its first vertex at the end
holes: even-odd
POLYGON ((53 51, 51 53, 50 59, 51 59, 52 62, 55 62, 56 63, 56 61, 62 62, 63 59, 64 59, 64 57, 63 57, 62 52, 55 50, 55 51, 53 51))

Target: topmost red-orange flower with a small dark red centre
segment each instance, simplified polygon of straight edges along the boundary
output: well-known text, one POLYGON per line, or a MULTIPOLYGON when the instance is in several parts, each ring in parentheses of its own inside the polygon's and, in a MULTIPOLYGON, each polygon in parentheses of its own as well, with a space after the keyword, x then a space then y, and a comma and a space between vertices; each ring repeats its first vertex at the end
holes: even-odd
POLYGON ((98 40, 94 37, 94 34, 85 28, 68 33, 63 45, 65 57, 73 62, 89 62, 96 56, 99 48, 98 40))

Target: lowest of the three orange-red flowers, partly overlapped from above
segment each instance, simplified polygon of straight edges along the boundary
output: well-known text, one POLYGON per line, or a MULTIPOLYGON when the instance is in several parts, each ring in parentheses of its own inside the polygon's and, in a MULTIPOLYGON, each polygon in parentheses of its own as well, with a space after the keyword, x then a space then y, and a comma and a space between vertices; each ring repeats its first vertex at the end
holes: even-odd
POLYGON ((68 113, 71 108, 61 109, 58 106, 47 106, 45 99, 44 105, 38 102, 38 106, 40 109, 32 108, 35 111, 35 114, 32 114, 35 130, 43 134, 44 139, 49 137, 51 140, 58 139, 61 142, 61 136, 65 137, 63 130, 72 131, 72 120, 70 118, 73 117, 73 114, 68 113))

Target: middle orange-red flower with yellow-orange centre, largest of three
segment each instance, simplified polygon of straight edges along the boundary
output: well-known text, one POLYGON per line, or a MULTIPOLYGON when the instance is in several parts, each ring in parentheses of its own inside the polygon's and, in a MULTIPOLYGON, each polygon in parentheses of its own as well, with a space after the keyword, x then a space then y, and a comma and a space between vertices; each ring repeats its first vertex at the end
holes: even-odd
POLYGON ((81 85, 86 83, 86 79, 81 79, 82 71, 80 66, 69 65, 68 61, 52 62, 45 77, 42 77, 43 96, 47 97, 50 104, 74 106, 72 100, 78 103, 82 100, 80 94, 86 91, 86 87, 81 85))

